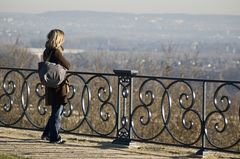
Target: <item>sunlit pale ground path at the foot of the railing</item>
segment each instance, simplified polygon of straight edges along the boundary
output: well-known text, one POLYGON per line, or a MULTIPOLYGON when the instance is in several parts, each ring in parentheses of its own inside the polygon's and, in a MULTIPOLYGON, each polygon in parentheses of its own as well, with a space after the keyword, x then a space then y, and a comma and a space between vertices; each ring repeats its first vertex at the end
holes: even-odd
MULTIPOLYGON (((50 144, 39 140, 41 132, 0 127, 0 153, 33 159, 69 158, 201 158, 195 149, 135 143, 120 147, 111 139, 63 134, 65 144, 50 144)), ((203 158, 240 158, 240 155, 208 152, 203 158)))

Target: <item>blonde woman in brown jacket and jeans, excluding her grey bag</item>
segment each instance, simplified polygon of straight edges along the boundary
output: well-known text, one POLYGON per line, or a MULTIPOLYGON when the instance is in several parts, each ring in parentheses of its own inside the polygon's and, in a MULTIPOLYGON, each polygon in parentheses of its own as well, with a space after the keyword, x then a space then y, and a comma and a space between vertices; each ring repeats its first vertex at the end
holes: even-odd
MULTIPOLYGON (((60 64, 69 69, 70 63, 63 57, 64 32, 59 29, 51 30, 47 35, 46 49, 43 53, 43 60, 60 64), (49 58, 49 56, 51 56, 49 58)), ((68 83, 65 80, 57 88, 45 88, 46 105, 51 105, 52 112, 47 125, 41 136, 42 140, 49 140, 51 143, 63 143, 59 130, 61 127, 61 116, 63 106, 67 104, 68 83)))

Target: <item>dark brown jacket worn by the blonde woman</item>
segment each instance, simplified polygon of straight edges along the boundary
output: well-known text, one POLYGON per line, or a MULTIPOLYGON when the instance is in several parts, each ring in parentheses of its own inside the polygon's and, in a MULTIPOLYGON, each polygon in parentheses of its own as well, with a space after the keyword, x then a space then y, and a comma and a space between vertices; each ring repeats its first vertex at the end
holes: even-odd
MULTIPOLYGON (((46 61, 48 55, 52 51, 52 55, 49 59, 50 62, 60 64, 66 69, 70 68, 70 63, 63 57, 63 51, 61 49, 46 48, 43 53, 43 60, 46 61)), ((46 105, 65 105, 67 104, 67 81, 63 81, 58 88, 45 88, 46 105)))

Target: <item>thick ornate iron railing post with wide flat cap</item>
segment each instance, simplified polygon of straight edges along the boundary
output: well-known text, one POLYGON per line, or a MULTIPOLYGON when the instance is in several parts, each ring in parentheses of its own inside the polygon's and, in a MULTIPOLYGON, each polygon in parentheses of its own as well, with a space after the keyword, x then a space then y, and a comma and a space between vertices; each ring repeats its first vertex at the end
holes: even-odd
POLYGON ((133 76, 136 70, 114 70, 118 76, 117 95, 117 138, 114 144, 129 145, 131 142, 131 113, 133 96, 133 76))

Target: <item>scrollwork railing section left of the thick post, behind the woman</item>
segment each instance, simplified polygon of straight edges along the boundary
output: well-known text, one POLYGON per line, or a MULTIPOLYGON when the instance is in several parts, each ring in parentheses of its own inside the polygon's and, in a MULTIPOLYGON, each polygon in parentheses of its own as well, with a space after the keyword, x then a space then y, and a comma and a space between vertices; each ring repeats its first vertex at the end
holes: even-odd
MULTIPOLYGON (((51 107, 45 105, 45 87, 39 83, 37 70, 0 70, 0 125, 43 129, 51 107)), ((66 78, 70 81, 70 92, 64 106, 62 130, 111 136, 117 118, 109 79, 114 76, 68 72, 66 78)))

